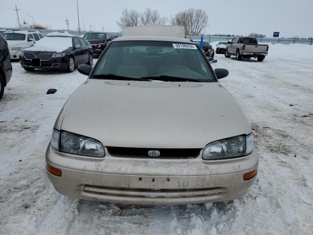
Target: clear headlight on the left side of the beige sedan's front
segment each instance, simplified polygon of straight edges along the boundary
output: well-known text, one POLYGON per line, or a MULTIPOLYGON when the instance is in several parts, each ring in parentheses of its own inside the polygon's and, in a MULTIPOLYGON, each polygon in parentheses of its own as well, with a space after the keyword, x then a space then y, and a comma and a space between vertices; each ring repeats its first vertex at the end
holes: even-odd
POLYGON ((67 131, 53 130, 51 147, 64 153, 101 158, 105 156, 101 142, 67 131))

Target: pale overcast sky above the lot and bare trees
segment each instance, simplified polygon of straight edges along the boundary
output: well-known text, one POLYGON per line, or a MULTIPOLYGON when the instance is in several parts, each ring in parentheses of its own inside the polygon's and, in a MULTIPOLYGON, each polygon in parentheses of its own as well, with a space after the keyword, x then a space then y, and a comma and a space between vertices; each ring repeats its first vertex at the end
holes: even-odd
MULTIPOLYGON (((0 27, 15 27, 15 4, 19 17, 32 24, 49 25, 51 29, 77 29, 76 0, 0 0, 0 27)), ((209 17, 205 34, 239 34, 251 32, 271 37, 279 31, 281 37, 313 36, 313 0, 78 0, 81 28, 118 32, 118 21, 123 8, 146 7, 157 9, 161 16, 174 16, 187 8, 202 8, 209 17)))

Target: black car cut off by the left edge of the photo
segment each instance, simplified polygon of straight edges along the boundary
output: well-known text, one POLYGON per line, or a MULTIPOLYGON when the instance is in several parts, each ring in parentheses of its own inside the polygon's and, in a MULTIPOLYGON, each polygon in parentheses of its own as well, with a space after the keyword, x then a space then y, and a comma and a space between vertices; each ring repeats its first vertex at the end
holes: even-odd
POLYGON ((4 87, 12 76, 12 65, 8 43, 0 34, 0 99, 2 98, 4 87))

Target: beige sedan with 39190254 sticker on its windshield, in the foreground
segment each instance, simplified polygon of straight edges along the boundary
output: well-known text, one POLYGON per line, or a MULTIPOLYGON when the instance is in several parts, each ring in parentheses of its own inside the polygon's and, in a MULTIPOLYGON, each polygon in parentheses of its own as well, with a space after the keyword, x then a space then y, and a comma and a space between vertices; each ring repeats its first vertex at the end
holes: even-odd
POLYGON ((112 41, 67 100, 46 151, 67 196, 124 204, 242 197, 258 154, 241 108, 200 47, 181 38, 112 41))

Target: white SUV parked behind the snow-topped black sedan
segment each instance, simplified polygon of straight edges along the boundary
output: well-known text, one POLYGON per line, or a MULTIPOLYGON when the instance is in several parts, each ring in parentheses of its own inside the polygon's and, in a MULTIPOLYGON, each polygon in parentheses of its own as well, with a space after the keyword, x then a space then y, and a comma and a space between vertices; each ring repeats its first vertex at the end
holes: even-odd
POLYGON ((38 31, 6 31, 2 37, 8 42, 10 59, 19 59, 21 50, 33 46, 43 35, 38 31))

